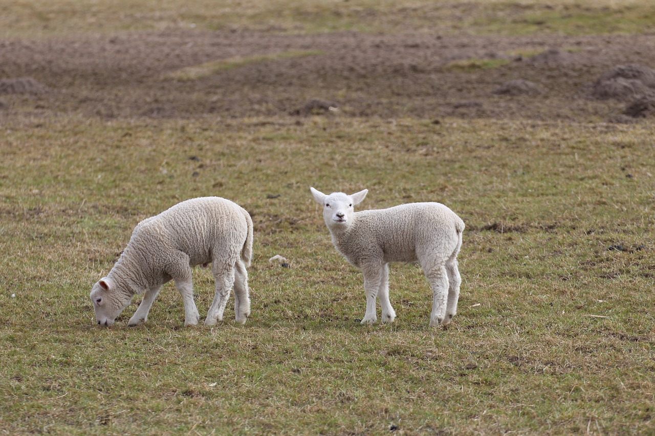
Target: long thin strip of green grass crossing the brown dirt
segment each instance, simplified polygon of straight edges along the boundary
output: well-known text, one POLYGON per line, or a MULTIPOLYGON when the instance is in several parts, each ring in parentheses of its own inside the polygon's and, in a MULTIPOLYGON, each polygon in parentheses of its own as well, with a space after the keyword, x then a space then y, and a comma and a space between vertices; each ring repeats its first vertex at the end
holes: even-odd
POLYGON ((208 77, 219 71, 234 69, 248 64, 257 64, 261 62, 270 62, 282 59, 305 58, 307 56, 319 56, 323 54, 321 50, 290 50, 287 52, 256 54, 253 56, 234 56, 232 58, 205 62, 204 64, 184 67, 177 71, 172 71, 164 76, 164 79, 173 79, 176 81, 195 81, 208 77))

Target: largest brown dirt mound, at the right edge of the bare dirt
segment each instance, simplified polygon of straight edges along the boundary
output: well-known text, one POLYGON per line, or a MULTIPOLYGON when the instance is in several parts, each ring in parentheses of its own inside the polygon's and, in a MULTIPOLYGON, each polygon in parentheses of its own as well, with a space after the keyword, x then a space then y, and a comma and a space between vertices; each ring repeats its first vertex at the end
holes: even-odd
POLYGON ((598 100, 633 100, 652 94, 654 90, 654 70, 642 65, 617 65, 593 84, 591 96, 598 100))

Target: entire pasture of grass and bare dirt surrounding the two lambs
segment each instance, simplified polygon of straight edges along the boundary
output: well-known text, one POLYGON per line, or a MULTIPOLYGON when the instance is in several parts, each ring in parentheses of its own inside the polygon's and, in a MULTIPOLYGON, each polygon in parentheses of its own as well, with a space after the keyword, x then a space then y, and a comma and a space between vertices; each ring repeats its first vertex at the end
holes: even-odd
POLYGON ((655 431, 654 115, 626 115, 655 83, 595 94, 655 69, 652 5, 127 3, 0 7, 0 433, 655 431), (453 323, 392 264, 398 318, 360 325, 310 186, 458 213, 453 323), (134 226, 212 195, 253 218, 247 323, 183 327, 169 283, 95 325, 134 226))

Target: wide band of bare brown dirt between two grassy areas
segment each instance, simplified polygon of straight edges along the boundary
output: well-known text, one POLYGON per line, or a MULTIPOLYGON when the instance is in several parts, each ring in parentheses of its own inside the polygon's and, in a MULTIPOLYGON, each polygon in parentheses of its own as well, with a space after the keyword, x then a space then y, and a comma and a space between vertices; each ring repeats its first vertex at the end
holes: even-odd
POLYGON ((627 104, 655 90, 650 87, 655 84, 608 73, 618 65, 641 65, 647 72, 648 67, 655 68, 655 35, 271 35, 171 30, 0 41, 0 59, 0 99, 5 103, 0 116, 305 117, 324 111, 352 117, 585 122, 621 119, 616 116, 627 104), (243 65, 196 81, 164 77, 190 65, 288 50, 321 50, 322 54, 243 65), (539 50, 547 51, 533 58, 517 55, 539 50), (469 58, 505 58, 509 63, 474 71, 445 67, 469 58), (599 98, 601 77, 614 80, 612 92, 626 88, 634 95, 607 97, 601 89, 604 97, 599 98), (495 93, 512 81, 531 82, 540 92, 495 93), (338 112, 328 109, 332 104, 338 112), (313 105, 310 110, 308 105, 313 105))

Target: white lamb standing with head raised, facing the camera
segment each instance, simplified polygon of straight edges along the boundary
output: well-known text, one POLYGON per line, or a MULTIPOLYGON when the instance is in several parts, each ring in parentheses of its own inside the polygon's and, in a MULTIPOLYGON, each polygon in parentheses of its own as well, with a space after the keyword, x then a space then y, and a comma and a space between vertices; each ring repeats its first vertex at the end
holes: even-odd
POLYGON ((333 244, 364 274, 366 314, 362 324, 377 321, 376 297, 382 306, 382 321, 390 323, 396 318, 389 302, 389 262, 421 263, 434 296, 430 326, 445 325, 453 319, 462 281, 457 269, 464 230, 460 217, 439 203, 355 212, 353 206, 364 200, 367 189, 352 195, 326 195, 310 189, 323 206, 333 244))

